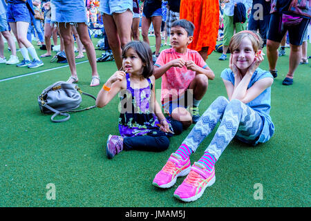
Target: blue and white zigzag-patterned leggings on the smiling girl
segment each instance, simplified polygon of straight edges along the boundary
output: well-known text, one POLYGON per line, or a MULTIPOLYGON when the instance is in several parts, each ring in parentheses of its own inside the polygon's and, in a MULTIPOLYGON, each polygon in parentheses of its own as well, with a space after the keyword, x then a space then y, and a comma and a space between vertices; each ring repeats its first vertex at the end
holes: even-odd
POLYGON ((182 144, 186 144, 195 152, 220 119, 221 122, 216 134, 205 150, 205 152, 214 155, 216 160, 234 136, 241 137, 243 140, 254 141, 261 134, 263 128, 261 116, 252 108, 238 99, 232 99, 229 102, 225 97, 218 97, 200 117, 182 144))

